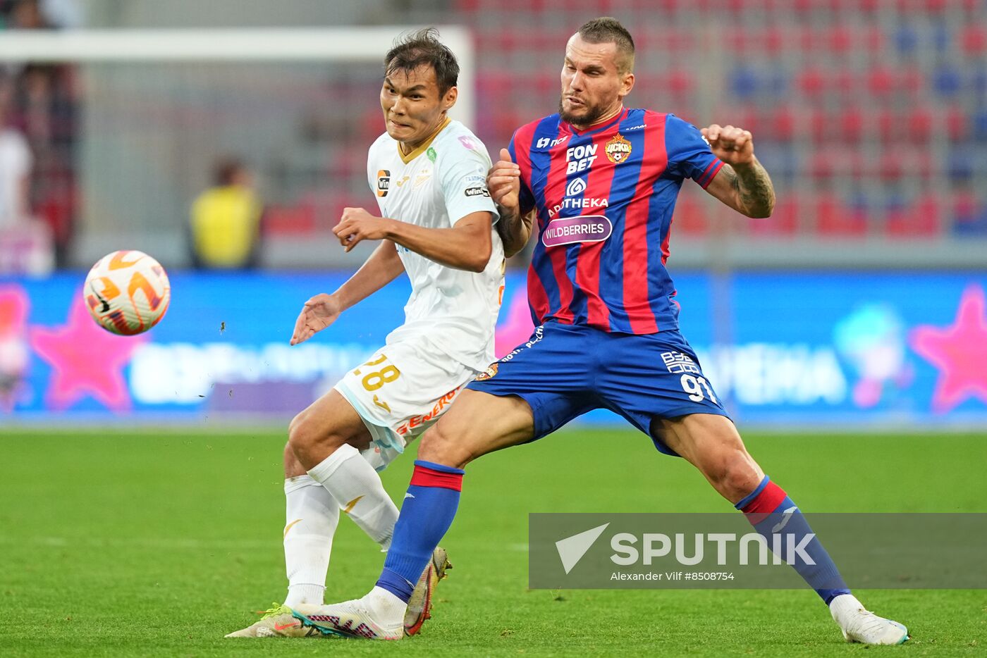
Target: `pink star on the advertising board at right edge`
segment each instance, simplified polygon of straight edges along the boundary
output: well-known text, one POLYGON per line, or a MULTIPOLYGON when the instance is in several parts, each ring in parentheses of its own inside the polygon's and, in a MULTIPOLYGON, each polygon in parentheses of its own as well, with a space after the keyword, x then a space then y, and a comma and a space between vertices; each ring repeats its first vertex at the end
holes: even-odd
POLYGON ((985 307, 983 288, 968 286, 959 300, 951 326, 924 325, 912 329, 909 334, 912 349, 939 368, 932 399, 936 411, 949 411, 972 397, 987 402, 985 307))

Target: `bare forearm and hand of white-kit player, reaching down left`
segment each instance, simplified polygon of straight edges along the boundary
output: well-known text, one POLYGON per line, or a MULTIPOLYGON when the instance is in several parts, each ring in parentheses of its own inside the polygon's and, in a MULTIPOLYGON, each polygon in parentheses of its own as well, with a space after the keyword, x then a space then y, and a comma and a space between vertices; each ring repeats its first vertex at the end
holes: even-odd
POLYGON ((305 302, 295 321, 291 344, 297 345, 326 329, 343 311, 377 292, 403 271, 405 266, 394 243, 385 240, 339 290, 331 295, 321 293, 305 302))

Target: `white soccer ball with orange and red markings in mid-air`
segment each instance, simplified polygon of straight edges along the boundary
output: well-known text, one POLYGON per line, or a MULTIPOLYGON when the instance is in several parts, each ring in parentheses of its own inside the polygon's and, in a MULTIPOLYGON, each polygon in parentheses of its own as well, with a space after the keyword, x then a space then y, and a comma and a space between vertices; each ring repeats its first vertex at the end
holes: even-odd
POLYGON ((93 319, 108 331, 133 335, 151 329, 165 316, 172 286, 157 260, 132 250, 100 258, 82 292, 93 319))

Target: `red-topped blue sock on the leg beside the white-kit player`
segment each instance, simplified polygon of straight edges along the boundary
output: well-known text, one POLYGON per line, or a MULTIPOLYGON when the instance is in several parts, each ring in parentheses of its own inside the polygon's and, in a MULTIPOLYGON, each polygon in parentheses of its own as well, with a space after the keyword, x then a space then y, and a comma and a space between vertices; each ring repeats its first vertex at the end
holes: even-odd
POLYGON ((463 488, 463 471, 431 462, 415 462, 394 539, 377 586, 408 603, 432 550, 452 525, 463 488))

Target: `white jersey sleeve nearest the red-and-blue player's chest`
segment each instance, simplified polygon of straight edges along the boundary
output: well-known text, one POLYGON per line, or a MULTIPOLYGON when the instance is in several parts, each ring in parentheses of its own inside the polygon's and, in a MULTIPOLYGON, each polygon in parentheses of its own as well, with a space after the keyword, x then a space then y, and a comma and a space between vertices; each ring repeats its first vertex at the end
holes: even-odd
POLYGON ((496 223, 499 214, 487 188, 491 159, 480 140, 475 137, 456 140, 439 162, 442 195, 450 224, 455 226, 473 212, 490 212, 496 223))

